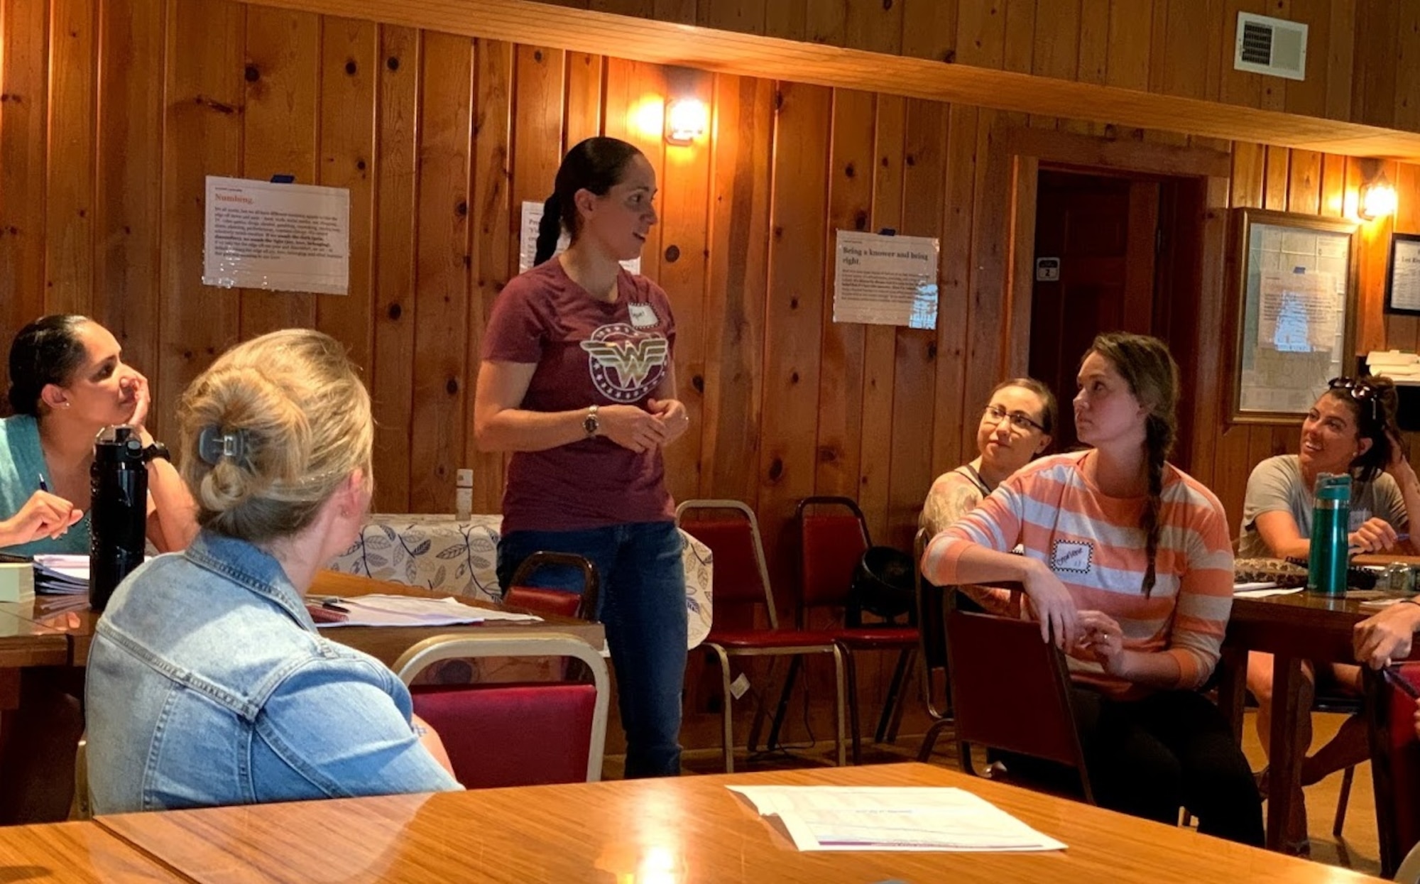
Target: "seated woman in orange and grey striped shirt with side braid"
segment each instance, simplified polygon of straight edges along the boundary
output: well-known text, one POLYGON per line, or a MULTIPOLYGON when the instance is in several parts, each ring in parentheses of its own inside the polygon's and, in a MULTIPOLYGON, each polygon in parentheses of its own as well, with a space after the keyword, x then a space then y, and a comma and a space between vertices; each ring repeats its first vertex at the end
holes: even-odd
POLYGON ((1252 772, 1197 692, 1231 611, 1233 553, 1223 505, 1167 460, 1179 367, 1157 338, 1102 334, 1078 384, 1075 431, 1091 448, 1001 482, 933 539, 923 576, 1024 586, 1042 637, 1069 655, 1102 806, 1170 824, 1183 806, 1198 831, 1260 846, 1252 772), (1017 543, 1024 556, 1008 553, 1017 543))

